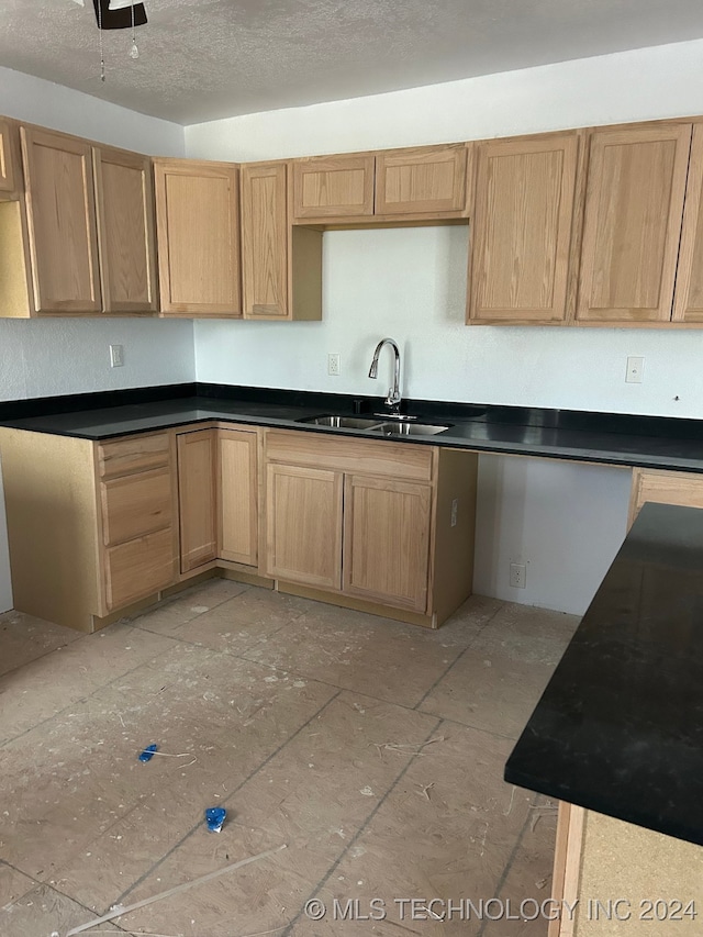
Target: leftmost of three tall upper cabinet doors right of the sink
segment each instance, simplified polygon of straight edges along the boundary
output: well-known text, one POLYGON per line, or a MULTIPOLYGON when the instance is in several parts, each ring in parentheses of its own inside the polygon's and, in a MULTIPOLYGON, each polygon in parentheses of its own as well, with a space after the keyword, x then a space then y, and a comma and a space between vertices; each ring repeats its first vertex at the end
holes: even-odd
POLYGON ((477 147, 469 322, 566 317, 579 137, 477 147))

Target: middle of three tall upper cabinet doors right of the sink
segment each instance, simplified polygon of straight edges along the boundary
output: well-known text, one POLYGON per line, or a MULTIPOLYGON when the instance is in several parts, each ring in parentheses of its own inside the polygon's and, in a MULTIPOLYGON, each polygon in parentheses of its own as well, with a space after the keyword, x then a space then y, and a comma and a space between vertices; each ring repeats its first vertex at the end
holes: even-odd
POLYGON ((691 130, 665 124, 593 133, 579 321, 670 320, 691 130))

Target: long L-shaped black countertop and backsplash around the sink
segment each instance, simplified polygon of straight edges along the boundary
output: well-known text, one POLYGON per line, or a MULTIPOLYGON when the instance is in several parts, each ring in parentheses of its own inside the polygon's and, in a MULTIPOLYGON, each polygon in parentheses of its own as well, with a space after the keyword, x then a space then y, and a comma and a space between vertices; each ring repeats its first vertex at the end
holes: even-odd
MULTIPOLYGON (((297 422, 323 413, 352 414, 355 401, 365 413, 383 409, 379 398, 198 383, 0 403, 0 425, 107 439, 222 420, 379 438, 368 431, 297 422)), ((406 401, 404 409, 450 426, 394 442, 703 471, 703 423, 696 420, 417 400, 406 401)))

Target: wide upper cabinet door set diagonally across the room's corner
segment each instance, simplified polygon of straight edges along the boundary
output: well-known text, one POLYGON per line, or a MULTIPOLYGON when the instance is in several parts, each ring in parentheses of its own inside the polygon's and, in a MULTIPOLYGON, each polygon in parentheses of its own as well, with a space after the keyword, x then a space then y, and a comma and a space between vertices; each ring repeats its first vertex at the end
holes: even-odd
POLYGON ((161 312, 241 316, 237 169, 154 160, 161 312))

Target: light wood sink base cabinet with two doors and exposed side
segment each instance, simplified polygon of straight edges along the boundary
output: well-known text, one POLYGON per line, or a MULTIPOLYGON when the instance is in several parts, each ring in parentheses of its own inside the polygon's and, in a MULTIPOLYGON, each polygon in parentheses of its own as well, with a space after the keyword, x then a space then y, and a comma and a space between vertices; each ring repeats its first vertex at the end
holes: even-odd
POLYGON ((473 453, 268 431, 265 455, 279 588, 435 627, 471 594, 473 453))

